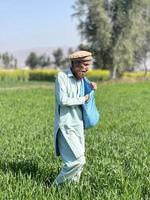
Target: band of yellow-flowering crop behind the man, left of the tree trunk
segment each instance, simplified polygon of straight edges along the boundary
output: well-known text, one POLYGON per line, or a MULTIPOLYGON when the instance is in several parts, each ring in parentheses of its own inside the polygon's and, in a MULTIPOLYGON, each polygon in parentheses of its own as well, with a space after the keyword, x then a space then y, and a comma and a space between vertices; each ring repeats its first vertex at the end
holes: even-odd
MULTIPOLYGON (((56 69, 34 69, 34 70, 0 70, 0 83, 2 82, 27 82, 27 81, 49 81, 53 82, 59 70, 56 69)), ((87 77, 92 81, 103 81, 109 79, 108 70, 90 70, 87 77)))

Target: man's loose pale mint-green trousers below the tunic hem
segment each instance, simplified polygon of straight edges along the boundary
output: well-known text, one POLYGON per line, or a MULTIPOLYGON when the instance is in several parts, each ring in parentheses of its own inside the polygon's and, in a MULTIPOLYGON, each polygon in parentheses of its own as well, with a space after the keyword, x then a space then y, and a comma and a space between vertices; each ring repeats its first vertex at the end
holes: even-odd
POLYGON ((65 181, 79 182, 85 164, 85 156, 82 155, 79 158, 76 158, 60 129, 57 134, 58 148, 64 165, 53 184, 59 185, 65 181))

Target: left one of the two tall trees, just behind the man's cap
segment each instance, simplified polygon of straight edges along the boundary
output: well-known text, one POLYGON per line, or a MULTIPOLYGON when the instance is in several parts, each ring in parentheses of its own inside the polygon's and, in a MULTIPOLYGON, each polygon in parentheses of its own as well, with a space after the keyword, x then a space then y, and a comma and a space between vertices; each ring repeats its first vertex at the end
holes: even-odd
POLYGON ((78 30, 95 55, 95 65, 107 68, 110 64, 111 23, 102 0, 79 0, 74 5, 78 30))

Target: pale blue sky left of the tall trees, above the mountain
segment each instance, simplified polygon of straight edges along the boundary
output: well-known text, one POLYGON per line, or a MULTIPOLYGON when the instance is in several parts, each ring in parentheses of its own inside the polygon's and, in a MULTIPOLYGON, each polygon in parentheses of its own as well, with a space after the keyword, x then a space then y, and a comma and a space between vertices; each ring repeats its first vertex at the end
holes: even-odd
POLYGON ((0 50, 77 46, 75 0, 0 0, 0 50))

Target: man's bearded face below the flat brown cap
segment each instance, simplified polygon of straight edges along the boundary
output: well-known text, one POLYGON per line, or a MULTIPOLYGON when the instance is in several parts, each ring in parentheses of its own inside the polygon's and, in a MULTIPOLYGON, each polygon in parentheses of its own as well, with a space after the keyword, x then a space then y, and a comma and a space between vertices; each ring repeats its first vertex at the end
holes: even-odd
POLYGON ((86 72, 89 70, 90 65, 91 61, 80 61, 75 64, 73 68, 73 73, 77 80, 81 80, 86 75, 86 72))

